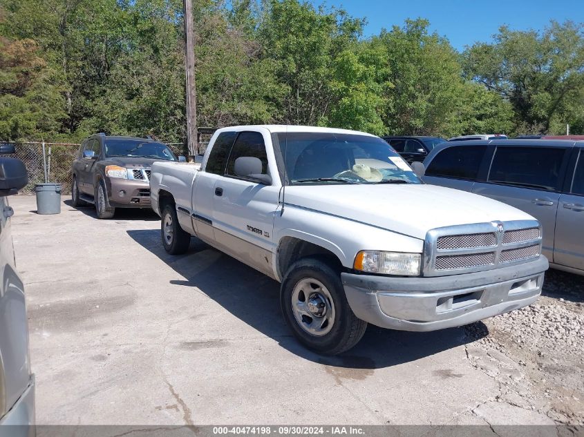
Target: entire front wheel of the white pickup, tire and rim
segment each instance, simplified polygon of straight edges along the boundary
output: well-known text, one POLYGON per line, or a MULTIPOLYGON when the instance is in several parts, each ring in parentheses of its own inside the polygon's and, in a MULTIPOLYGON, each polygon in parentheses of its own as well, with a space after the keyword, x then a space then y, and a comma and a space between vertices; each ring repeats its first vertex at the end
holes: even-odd
POLYGON ((292 264, 282 282, 280 303, 294 336, 319 353, 348 351, 367 328, 350 309, 339 272, 316 258, 292 264))

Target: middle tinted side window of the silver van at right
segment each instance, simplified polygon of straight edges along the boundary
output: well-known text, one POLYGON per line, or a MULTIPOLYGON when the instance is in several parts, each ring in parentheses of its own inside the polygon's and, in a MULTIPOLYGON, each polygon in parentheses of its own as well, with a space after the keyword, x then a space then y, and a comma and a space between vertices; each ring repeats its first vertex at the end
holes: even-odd
POLYGON ((554 191, 564 154, 564 148, 499 146, 489 182, 554 191))

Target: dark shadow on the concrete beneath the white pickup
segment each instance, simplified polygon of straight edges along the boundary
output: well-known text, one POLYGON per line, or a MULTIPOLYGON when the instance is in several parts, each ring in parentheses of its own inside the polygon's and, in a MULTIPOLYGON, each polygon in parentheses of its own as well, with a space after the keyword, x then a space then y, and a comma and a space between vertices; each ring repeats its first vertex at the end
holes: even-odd
POLYGON ((171 280, 171 284, 198 287, 229 313, 273 338, 281 347, 313 362, 350 369, 378 369, 431 356, 478 340, 488 333, 482 322, 478 322, 482 327, 478 331, 483 334, 473 339, 462 328, 415 333, 369 325, 364 338, 350 351, 335 357, 319 356, 302 347, 286 327, 280 310, 278 282, 195 237, 191 239, 191 246, 185 255, 169 255, 160 242, 160 231, 130 230, 127 233, 187 278, 171 280))

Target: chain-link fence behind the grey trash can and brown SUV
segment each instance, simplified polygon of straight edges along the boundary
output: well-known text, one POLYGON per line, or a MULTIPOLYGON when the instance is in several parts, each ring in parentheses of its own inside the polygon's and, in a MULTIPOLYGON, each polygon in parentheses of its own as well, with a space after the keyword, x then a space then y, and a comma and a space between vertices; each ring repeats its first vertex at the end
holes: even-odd
MULTIPOLYGON (((167 146, 175 155, 184 155, 185 145, 183 143, 167 143, 167 146)), ((63 194, 71 193, 71 183, 73 182, 71 167, 73 160, 79 154, 79 144, 16 143, 15 150, 16 153, 3 156, 16 157, 26 165, 28 185, 20 191, 21 194, 34 193, 35 185, 44 184, 44 182, 61 184, 63 194)))

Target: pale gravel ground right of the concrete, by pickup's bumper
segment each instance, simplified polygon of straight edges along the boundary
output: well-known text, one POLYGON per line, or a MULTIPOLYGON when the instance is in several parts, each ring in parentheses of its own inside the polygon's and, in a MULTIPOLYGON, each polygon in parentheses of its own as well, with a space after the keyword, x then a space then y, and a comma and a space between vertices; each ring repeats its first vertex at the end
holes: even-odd
POLYGON ((500 384, 498 402, 584 425, 583 277, 550 270, 535 304, 465 330, 471 365, 500 384))

